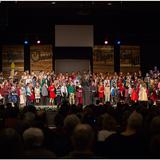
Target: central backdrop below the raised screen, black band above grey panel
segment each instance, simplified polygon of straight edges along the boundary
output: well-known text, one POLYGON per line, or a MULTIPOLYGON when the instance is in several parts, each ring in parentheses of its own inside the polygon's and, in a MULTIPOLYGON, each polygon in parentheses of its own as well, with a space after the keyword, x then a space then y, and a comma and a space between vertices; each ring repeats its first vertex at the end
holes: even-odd
POLYGON ((56 47, 55 71, 91 71, 91 47, 56 47))

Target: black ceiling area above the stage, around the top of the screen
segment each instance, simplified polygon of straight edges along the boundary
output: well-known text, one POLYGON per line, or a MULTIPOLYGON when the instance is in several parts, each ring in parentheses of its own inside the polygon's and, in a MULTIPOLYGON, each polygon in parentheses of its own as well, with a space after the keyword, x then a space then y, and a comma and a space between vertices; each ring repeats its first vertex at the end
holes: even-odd
POLYGON ((55 24, 94 24, 95 43, 105 37, 125 43, 160 42, 160 2, 55 1, 1 2, 0 40, 53 42, 55 24))

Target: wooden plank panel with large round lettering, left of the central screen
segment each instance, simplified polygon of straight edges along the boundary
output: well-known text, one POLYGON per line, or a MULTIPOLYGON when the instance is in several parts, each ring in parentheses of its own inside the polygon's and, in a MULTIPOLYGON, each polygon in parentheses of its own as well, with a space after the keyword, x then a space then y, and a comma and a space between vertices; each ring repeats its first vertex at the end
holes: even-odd
POLYGON ((30 70, 34 72, 52 71, 52 45, 30 46, 30 70))

